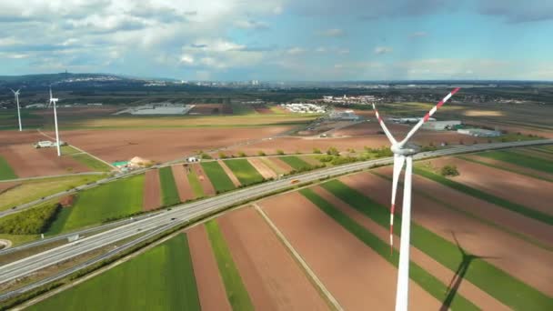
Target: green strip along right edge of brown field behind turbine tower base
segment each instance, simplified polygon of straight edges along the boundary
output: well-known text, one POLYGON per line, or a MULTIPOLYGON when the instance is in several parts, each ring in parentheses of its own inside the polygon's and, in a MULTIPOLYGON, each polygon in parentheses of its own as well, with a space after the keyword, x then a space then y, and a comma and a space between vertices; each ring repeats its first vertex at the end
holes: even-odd
MULTIPOLYGON (((306 196, 309 201, 315 204, 328 216, 337 221, 338 224, 345 227, 352 235, 356 236, 359 240, 365 243, 367 246, 375 250, 380 256, 386 259, 390 264, 397 266, 399 252, 394 249, 392 256, 390 256, 390 249, 386 242, 379 239, 377 236, 368 231, 365 227, 357 224, 357 222, 346 214, 339 211, 336 207, 332 206, 325 199, 317 196, 313 190, 304 188, 299 191, 303 196, 306 196)), ((453 295, 447 295, 447 286, 441 283, 435 276, 429 274, 421 266, 418 266, 414 262, 409 263, 409 278, 415 283, 421 286, 428 294, 437 298, 437 300, 444 302, 444 305, 453 310, 478 310, 478 306, 475 306, 467 298, 456 293, 453 295), (449 299, 447 299, 449 297, 449 299)))

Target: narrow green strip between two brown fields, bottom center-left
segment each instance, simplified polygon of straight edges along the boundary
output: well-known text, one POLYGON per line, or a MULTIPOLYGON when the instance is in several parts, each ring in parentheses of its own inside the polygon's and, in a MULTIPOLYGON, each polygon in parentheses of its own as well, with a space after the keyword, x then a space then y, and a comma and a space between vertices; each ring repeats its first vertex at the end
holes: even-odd
POLYGON ((242 277, 236 269, 235 262, 230 255, 230 250, 226 246, 225 237, 221 233, 216 220, 206 222, 207 236, 211 242, 213 253, 216 257, 219 273, 225 284, 226 296, 228 302, 234 310, 254 310, 254 306, 249 298, 246 286, 242 282, 242 277))

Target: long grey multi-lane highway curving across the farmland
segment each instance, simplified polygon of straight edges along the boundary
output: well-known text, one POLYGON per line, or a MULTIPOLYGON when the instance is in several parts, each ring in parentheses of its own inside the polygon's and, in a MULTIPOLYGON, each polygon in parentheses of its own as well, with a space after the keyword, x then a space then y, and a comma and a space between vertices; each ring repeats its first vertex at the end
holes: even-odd
MULTIPOLYGON (((423 152, 416 156, 415 159, 423 159, 437 156, 450 156, 463 153, 477 152, 490 149, 500 149, 515 146, 525 145, 549 145, 553 144, 553 139, 512 142, 512 143, 495 143, 483 145, 458 146, 431 152, 423 152)), ((174 206, 171 210, 165 210, 143 216, 139 219, 129 222, 121 222, 113 229, 101 232, 94 236, 88 236, 76 242, 58 246, 34 256, 25 257, 5 266, 0 266, 0 284, 15 280, 17 278, 27 276, 46 266, 52 266, 56 263, 63 262, 97 249, 116 243, 117 241, 126 239, 127 237, 136 236, 137 233, 150 230, 157 230, 160 227, 168 229, 173 226, 178 226, 183 222, 195 219, 199 216, 206 216, 228 206, 236 206, 240 203, 254 200, 261 196, 267 196, 278 191, 283 191, 289 188, 293 180, 298 180, 294 186, 305 185, 326 177, 341 176, 351 172, 367 169, 373 166, 383 166, 391 164, 393 158, 381 158, 366 162, 357 162, 344 166, 333 166, 316 171, 308 172, 297 176, 289 176, 279 180, 267 182, 257 186, 251 186, 236 191, 232 191, 223 195, 206 198, 201 201, 174 206)), ((77 232, 78 233, 78 232, 77 232)), ((75 234, 75 233, 74 233, 75 234)), ((117 252, 112 252, 115 255, 117 252)), ((82 266, 84 267, 84 266, 82 266)), ((0 299, 6 297, 10 293, 0 296, 0 299)), ((13 295, 9 295, 13 296, 13 295)))

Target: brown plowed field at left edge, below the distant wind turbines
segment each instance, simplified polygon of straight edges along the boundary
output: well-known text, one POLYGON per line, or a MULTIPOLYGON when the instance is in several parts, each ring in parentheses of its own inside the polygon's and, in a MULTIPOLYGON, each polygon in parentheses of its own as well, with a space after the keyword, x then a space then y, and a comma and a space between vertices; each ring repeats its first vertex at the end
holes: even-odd
MULTIPOLYGON (((65 140, 63 134, 60 139, 65 140)), ((0 155, 19 177, 90 172, 71 156, 57 156, 55 148, 36 149, 33 144, 41 140, 45 137, 36 131, 0 131, 0 155)))

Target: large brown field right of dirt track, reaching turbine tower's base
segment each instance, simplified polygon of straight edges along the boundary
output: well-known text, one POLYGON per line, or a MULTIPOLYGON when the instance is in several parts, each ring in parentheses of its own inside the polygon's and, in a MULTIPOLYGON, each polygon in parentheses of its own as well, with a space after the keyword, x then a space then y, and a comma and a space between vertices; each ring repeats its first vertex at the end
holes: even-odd
MULTIPOLYGON (((297 192, 273 196, 261 206, 307 265, 346 310, 391 310, 397 269, 297 192)), ((409 303, 417 310, 441 304, 414 282, 409 303)))

